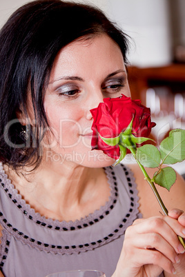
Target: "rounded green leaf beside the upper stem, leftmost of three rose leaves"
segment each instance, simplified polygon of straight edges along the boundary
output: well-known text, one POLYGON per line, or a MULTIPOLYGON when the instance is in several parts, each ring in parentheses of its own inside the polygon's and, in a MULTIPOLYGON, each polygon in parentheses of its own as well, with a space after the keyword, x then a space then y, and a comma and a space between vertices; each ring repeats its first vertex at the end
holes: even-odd
POLYGON ((159 150, 151 144, 137 148, 136 158, 146 167, 158 167, 161 162, 159 150))

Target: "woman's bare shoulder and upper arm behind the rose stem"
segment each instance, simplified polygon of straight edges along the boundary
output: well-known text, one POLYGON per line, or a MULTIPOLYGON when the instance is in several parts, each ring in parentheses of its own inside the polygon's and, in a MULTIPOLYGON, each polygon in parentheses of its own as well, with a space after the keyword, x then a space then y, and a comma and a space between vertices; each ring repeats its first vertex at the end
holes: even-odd
MULTIPOLYGON (((133 171, 135 182, 137 183, 140 212, 144 217, 159 215, 159 212, 162 212, 162 209, 159 206, 150 185, 144 180, 144 175, 139 169, 139 166, 135 164, 129 165, 129 167, 133 171)), ((156 169, 147 168, 146 171, 150 178, 152 178, 156 169)), ((178 208, 185 210, 185 181, 182 176, 177 174, 177 180, 171 187, 170 192, 159 185, 156 185, 156 187, 167 209, 178 208)))

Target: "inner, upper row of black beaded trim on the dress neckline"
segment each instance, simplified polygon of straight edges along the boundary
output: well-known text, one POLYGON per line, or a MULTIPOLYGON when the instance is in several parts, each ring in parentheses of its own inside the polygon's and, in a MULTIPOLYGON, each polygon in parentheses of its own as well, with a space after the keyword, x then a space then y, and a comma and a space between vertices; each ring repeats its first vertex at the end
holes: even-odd
MULTIPOLYGON (((113 194, 115 196, 115 199, 113 200, 113 203, 111 203, 109 209, 104 212, 104 214, 102 214, 101 216, 95 218, 94 220, 90 220, 88 223, 84 223, 82 225, 78 225, 77 227, 75 226, 70 226, 68 228, 66 227, 59 227, 59 226, 52 226, 50 224, 47 224, 47 223, 44 223, 44 222, 41 222, 40 220, 36 220, 35 222, 37 223, 37 225, 40 225, 42 227, 46 227, 48 229, 55 229, 55 230, 58 230, 58 231, 73 231, 73 230, 76 230, 76 229, 81 229, 81 228, 86 228, 86 227, 89 227, 97 222, 99 222, 99 220, 103 219, 104 216, 110 214, 110 210, 114 208, 115 206, 115 203, 117 203, 117 196, 118 196, 118 189, 117 189, 117 178, 115 176, 115 172, 113 172, 113 167, 109 167, 112 171, 111 171, 111 174, 112 174, 112 178, 113 178, 113 183, 114 183, 114 188, 113 188, 113 194)), ((17 200, 12 198, 12 194, 10 194, 8 192, 8 188, 5 188, 5 184, 2 182, 1 178, 0 178, 0 183, 1 183, 1 186, 3 187, 4 191, 6 192, 6 194, 8 194, 9 198, 12 199, 12 202, 17 205, 17 207, 23 212, 23 214, 25 216, 27 216, 30 220, 34 220, 32 218, 31 215, 28 214, 28 212, 23 209, 23 207, 17 203, 17 200)))

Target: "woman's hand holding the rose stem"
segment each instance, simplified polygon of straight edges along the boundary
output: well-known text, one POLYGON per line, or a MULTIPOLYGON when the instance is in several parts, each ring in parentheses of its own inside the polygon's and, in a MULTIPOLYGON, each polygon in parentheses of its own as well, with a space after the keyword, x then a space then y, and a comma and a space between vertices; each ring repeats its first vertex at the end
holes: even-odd
POLYGON ((183 212, 169 212, 169 216, 135 220, 126 229, 121 256, 113 276, 155 277, 162 271, 166 271, 168 276, 175 272, 177 276, 182 276, 185 254, 182 254, 184 247, 177 235, 185 238, 184 216, 183 212))

